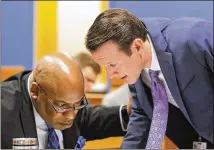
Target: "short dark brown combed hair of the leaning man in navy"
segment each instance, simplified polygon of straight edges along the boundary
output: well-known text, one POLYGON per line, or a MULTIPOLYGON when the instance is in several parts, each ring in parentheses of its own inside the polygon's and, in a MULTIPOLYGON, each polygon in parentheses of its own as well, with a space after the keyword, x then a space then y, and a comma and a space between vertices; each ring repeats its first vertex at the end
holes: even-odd
POLYGON ((131 55, 130 46, 134 39, 146 40, 147 30, 143 22, 123 9, 109 9, 97 16, 88 30, 85 45, 95 52, 104 42, 112 40, 120 50, 131 55))

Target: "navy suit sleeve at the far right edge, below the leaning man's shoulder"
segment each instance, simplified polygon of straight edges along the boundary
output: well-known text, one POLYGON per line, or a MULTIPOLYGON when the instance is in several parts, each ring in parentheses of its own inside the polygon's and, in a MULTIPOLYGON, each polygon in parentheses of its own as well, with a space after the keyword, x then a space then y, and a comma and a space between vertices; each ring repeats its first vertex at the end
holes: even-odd
POLYGON ((207 21, 195 23, 189 33, 188 45, 196 60, 214 72, 213 66, 213 24, 207 21))

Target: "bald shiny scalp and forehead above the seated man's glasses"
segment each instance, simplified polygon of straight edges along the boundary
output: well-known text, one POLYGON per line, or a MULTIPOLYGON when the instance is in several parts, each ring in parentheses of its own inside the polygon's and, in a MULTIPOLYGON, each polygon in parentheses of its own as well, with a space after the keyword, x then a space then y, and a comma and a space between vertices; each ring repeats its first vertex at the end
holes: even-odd
POLYGON ((33 71, 33 79, 53 97, 67 99, 76 93, 84 93, 84 79, 77 62, 64 53, 43 57, 33 71), (58 95, 56 94, 58 93, 58 95))

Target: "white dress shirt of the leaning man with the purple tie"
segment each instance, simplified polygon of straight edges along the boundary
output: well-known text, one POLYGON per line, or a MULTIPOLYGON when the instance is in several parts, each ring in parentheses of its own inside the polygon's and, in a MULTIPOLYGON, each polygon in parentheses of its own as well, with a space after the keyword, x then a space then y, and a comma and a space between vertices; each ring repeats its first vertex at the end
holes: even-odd
MULTIPOLYGON (((167 97, 168 97, 168 101, 169 103, 171 103, 172 105, 178 107, 178 104, 175 102, 174 98, 172 97, 172 94, 167 86, 167 83, 166 83, 166 80, 163 76, 163 73, 161 72, 161 68, 160 68, 160 64, 158 62, 158 59, 157 59, 157 55, 156 55, 156 52, 155 52, 155 49, 154 49, 154 46, 152 44, 152 41, 150 39, 150 37, 148 36, 148 39, 149 39, 149 43, 151 45, 151 49, 152 49, 152 64, 151 64, 151 68, 145 68, 142 70, 142 80, 143 82, 151 88, 151 78, 149 76, 149 69, 151 70, 159 70, 160 73, 158 75, 159 79, 163 82, 164 84, 164 87, 165 87, 165 90, 166 90, 166 94, 167 94, 167 97)), ((179 108, 179 107, 178 107, 179 108)))

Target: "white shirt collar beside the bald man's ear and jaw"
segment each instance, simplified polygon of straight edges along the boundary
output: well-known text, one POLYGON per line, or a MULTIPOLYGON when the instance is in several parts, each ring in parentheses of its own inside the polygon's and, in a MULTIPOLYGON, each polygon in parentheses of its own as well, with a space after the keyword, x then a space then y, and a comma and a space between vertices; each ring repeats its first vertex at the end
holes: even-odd
MULTIPOLYGON (((27 81, 27 89, 28 89, 28 94, 30 96, 30 79, 29 78, 30 78, 30 76, 28 77, 28 81, 27 81)), ((36 127, 43 129, 43 130, 46 130, 47 125, 46 125, 45 121, 42 119, 42 117, 36 111, 36 108, 34 107, 31 96, 30 96, 30 99, 31 99, 31 103, 33 105, 33 113, 35 116, 36 127)))

